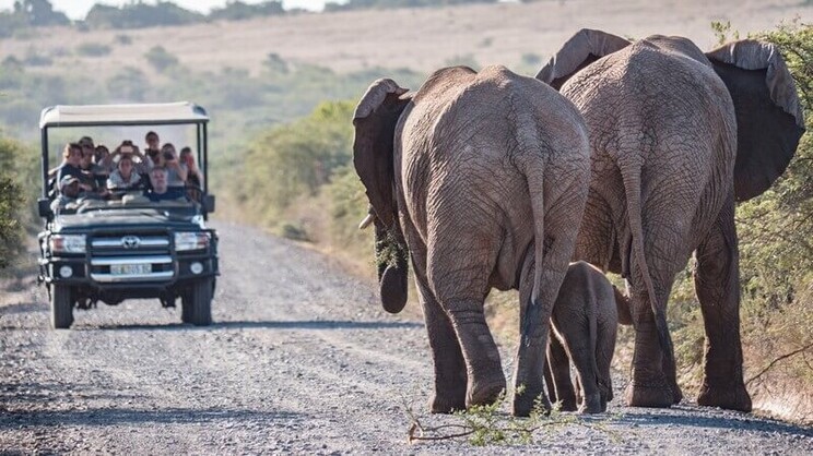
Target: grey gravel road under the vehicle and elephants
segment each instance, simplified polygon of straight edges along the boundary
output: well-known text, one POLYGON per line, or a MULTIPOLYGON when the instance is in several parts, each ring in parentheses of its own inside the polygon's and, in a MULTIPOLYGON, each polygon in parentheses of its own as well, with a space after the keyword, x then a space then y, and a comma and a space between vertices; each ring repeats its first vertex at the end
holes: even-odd
POLYGON ((4 291, 0 453, 813 454, 810 428, 692 404, 629 408, 620 394, 609 413, 530 444, 409 444, 408 408, 425 427, 462 423, 426 413, 422 322, 379 311, 373 284, 311 250, 216 228, 211 327, 181 325, 179 310, 149 300, 75 311, 72 329, 51 331, 44 288, 4 291))

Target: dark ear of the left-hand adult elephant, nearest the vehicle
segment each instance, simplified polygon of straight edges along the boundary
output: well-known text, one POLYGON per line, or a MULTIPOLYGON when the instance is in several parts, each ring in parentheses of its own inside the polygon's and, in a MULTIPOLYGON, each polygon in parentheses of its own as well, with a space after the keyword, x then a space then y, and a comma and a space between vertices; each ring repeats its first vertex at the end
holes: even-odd
POLYGON ((385 226, 394 221, 392 147, 396 124, 410 98, 394 81, 374 82, 353 113, 353 165, 367 191, 373 211, 385 226))

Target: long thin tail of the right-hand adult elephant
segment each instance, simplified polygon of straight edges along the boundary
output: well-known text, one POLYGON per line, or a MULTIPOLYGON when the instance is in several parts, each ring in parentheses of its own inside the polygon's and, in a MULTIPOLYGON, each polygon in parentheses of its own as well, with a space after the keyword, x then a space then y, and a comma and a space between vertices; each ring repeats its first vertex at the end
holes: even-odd
MULTIPOLYGON (((635 261, 640 269, 647 297, 649 298, 649 305, 655 315, 655 327, 658 333, 658 341, 663 351, 663 368, 665 368, 667 371, 664 373, 668 375, 668 379, 674 379, 676 375, 674 352, 672 349, 672 339, 669 337, 665 309, 660 309, 658 307, 652 276, 649 274, 649 265, 647 264, 647 257, 644 251, 644 224, 641 221, 643 206, 640 201, 641 166, 636 164, 634 166, 622 167, 621 169, 621 175, 624 180, 624 191, 627 199, 627 220, 629 223, 629 230, 633 238, 631 244, 632 252, 628 253, 628 256, 631 257, 628 263, 632 264, 633 261, 635 261)), ((632 272, 632 267, 629 267, 629 271, 632 272)), ((629 274, 632 275, 632 273, 629 274)))

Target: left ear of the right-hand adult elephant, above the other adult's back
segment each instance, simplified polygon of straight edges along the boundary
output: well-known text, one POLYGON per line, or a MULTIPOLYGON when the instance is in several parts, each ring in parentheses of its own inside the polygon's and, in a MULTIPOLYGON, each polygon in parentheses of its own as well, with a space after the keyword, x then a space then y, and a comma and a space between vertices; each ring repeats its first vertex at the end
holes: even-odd
POLYGON ((582 68, 627 46, 629 41, 620 36, 582 28, 542 67, 537 79, 558 91, 582 68))

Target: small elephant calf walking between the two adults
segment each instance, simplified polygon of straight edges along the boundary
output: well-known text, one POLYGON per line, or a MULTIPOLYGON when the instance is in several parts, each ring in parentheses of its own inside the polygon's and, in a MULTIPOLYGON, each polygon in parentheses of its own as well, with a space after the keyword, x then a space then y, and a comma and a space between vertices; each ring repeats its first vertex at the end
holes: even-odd
POLYGON ((613 398, 610 363, 615 350, 616 327, 620 316, 623 321, 629 319, 626 305, 626 298, 601 271, 585 262, 572 263, 567 268, 551 314, 555 338, 551 337, 547 347, 553 377, 547 377, 549 391, 562 401, 564 410, 575 410, 577 400, 570 382, 569 358, 576 367, 579 411, 606 411, 606 403, 613 398))

